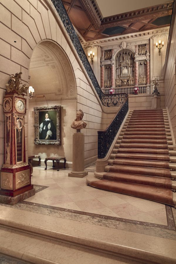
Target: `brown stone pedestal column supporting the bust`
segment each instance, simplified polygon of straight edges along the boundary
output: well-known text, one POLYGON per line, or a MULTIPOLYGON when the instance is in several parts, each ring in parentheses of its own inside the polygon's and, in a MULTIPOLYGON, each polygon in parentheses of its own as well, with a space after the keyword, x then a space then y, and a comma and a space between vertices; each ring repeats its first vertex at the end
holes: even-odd
POLYGON ((84 170, 84 134, 73 134, 73 164, 72 171, 68 173, 69 177, 83 178, 88 174, 84 170))

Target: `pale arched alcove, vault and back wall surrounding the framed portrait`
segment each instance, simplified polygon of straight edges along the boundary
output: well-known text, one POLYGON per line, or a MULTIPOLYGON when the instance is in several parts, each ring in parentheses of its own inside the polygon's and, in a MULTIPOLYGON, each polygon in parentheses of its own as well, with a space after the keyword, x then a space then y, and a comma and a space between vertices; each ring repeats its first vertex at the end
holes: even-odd
MULTIPOLYGON (((76 82, 71 63, 64 50, 55 42, 45 40, 33 50, 29 69, 29 85, 35 89, 28 106, 28 154, 65 156, 72 161, 72 133, 75 119, 76 82), (44 95, 45 97, 38 97, 44 95), (46 99, 45 99, 46 98, 46 99), (61 105, 61 145, 34 144, 35 106, 61 105)), ((44 163, 42 163, 44 165, 44 163)))

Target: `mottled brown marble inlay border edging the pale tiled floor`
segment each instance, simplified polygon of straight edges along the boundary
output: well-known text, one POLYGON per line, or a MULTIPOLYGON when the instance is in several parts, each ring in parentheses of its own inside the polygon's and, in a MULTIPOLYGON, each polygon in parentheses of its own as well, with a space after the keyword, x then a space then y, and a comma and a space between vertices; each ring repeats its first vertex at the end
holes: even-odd
MULTIPOLYGON (((48 186, 34 185, 36 192, 40 192, 48 186)), ((153 224, 149 222, 135 221, 123 219, 113 216, 93 214, 83 211, 76 211, 66 208, 54 207, 45 204, 37 204, 33 202, 22 201, 13 206, 9 204, 1 204, 5 207, 13 207, 18 210, 35 212, 53 216, 57 218, 67 219, 80 223, 88 223, 92 225, 104 226, 111 229, 119 229, 133 233, 146 234, 161 238, 168 238, 176 241, 176 210, 166 205, 167 225, 153 224)))

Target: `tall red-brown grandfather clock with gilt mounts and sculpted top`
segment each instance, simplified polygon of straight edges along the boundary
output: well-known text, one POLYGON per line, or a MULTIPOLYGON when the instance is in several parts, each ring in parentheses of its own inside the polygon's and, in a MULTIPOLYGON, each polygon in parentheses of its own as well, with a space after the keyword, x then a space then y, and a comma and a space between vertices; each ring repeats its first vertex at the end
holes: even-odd
MULTIPOLYGON (((31 167, 26 163, 25 153, 26 99, 24 95, 27 95, 28 86, 21 84, 21 74, 22 72, 18 72, 10 76, 3 103, 5 133, 0 202, 2 202, 2 196, 9 196, 10 200, 13 200, 11 204, 35 194, 35 189, 31 185, 31 167)), ((4 197, 3 202, 6 203, 6 200, 9 201, 4 197)))

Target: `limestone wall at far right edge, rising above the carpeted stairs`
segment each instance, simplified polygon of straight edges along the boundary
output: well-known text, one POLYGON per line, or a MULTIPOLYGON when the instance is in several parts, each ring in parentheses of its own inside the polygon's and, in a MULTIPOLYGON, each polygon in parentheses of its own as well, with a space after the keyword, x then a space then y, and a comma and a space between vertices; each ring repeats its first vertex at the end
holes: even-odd
POLYGON ((176 4, 174 3, 165 62, 165 106, 168 108, 176 141, 176 4))

